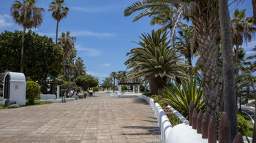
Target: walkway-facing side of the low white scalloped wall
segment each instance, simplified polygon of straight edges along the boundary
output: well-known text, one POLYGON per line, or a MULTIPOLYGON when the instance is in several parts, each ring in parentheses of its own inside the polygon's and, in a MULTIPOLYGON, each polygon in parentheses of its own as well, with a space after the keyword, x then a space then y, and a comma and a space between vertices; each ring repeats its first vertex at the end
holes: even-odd
POLYGON ((170 132, 173 126, 170 124, 170 121, 162 107, 158 103, 154 103, 154 99, 149 98, 148 96, 141 95, 140 98, 148 102, 157 117, 158 125, 161 132, 161 142, 170 142, 170 132))

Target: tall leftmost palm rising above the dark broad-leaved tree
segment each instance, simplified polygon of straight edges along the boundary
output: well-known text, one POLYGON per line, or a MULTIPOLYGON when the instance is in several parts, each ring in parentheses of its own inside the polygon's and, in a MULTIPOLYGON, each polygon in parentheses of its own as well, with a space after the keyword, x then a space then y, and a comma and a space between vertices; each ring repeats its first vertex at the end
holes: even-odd
POLYGON ((37 7, 35 0, 14 1, 11 15, 15 23, 23 26, 22 45, 20 50, 20 72, 23 72, 24 37, 26 28, 37 28, 42 23, 44 9, 37 7))

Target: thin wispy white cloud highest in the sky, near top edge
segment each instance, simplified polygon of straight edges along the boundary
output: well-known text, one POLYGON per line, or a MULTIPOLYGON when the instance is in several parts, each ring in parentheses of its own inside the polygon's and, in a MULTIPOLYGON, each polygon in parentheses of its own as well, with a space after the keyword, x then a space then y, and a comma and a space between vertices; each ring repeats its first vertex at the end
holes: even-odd
POLYGON ((70 7, 71 10, 99 13, 99 12, 113 12, 115 9, 124 9, 125 5, 107 5, 104 7, 70 7))

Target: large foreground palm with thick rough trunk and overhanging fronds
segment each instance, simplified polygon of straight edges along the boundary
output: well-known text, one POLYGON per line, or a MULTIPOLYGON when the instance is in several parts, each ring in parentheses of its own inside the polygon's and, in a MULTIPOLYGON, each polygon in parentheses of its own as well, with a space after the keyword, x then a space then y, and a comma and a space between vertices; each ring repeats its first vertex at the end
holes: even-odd
POLYGON ((219 2, 217 0, 144 0, 127 7, 124 10, 124 16, 129 16, 142 9, 157 10, 160 13, 165 9, 171 9, 170 7, 178 9, 173 18, 171 32, 173 42, 178 20, 182 16, 192 20, 200 55, 197 66, 203 74, 203 97, 206 103, 206 113, 208 117, 213 116, 218 123, 217 98, 221 84, 218 70, 218 42, 215 39, 219 30, 219 2))

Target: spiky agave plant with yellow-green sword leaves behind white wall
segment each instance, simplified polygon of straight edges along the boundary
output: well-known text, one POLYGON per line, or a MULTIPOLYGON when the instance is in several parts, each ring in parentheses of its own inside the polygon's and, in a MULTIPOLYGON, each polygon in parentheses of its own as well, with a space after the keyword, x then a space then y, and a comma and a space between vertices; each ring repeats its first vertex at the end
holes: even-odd
POLYGON ((194 101, 197 111, 200 109, 204 111, 202 82, 198 85, 197 78, 190 77, 189 80, 181 80, 181 87, 178 86, 177 82, 176 84, 171 83, 170 87, 165 88, 162 92, 161 101, 165 101, 185 117, 189 115, 190 101, 194 101))

